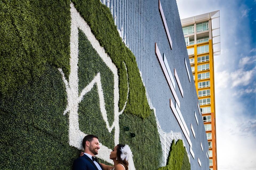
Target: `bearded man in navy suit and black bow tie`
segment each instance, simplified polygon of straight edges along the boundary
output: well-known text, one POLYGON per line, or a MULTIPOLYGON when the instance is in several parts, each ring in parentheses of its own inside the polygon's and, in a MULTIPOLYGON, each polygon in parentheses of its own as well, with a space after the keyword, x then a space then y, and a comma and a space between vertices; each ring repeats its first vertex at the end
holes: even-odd
POLYGON ((73 170, 103 170, 94 156, 98 154, 99 140, 97 136, 86 135, 83 138, 83 156, 77 158, 73 163, 73 170))

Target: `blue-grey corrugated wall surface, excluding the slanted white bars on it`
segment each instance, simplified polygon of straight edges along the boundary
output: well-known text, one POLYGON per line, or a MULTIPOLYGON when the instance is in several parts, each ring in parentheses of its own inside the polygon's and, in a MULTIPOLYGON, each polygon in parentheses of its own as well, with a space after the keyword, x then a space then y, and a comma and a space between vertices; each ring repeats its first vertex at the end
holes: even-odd
MULTIPOLYGON (((175 80, 176 93, 181 102, 180 110, 190 134, 192 134, 190 124, 193 125, 196 133, 196 139, 194 139, 193 135, 190 135, 195 154, 195 159, 190 156, 191 169, 208 169, 209 160, 205 154, 205 151, 208 150, 208 143, 203 121, 199 117, 200 115, 198 114, 199 125, 197 125, 194 118, 194 111, 198 112, 198 100, 194 82, 189 82, 184 64, 184 58, 186 57, 187 61, 189 59, 176 1, 161 0, 173 42, 173 50, 170 48, 158 10, 158 0, 110 0, 110 4, 112 3, 113 15, 117 15, 117 28, 121 30, 123 26, 123 35, 126 34, 127 38, 126 44, 129 43, 129 48, 135 55, 139 70, 142 73, 143 82, 147 90, 146 95, 149 96, 153 107, 155 107, 157 119, 160 122, 162 130, 165 132, 182 132, 182 130, 170 109, 169 99, 171 98, 172 101, 175 100, 155 55, 155 43, 157 43, 162 57, 163 53, 165 53, 173 76, 174 68, 177 70, 184 91, 183 98, 175 80), (200 142, 203 143, 204 152, 201 150, 200 142), (202 162, 202 167, 199 167, 197 162, 198 157, 202 162)), ((190 75, 191 80, 193 80, 192 72, 190 72, 190 75)), ((190 154, 189 144, 183 133, 182 136, 187 151, 190 154)))

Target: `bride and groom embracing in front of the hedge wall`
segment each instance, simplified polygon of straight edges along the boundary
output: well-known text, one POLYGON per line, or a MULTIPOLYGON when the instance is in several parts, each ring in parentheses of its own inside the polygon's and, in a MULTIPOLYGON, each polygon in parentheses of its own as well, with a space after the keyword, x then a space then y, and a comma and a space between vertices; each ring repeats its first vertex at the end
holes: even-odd
POLYGON ((95 155, 100 149, 97 136, 86 135, 83 138, 83 148, 85 152, 80 154, 73 163, 73 170, 135 170, 133 155, 128 145, 114 147, 109 158, 114 161, 114 167, 99 163, 95 155))

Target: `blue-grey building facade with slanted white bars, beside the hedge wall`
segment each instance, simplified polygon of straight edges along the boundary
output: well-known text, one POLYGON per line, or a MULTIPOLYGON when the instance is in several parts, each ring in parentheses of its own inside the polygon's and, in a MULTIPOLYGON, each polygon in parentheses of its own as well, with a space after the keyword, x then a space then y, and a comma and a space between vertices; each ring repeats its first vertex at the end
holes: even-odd
POLYGON ((176 1, 143 3, 113 0, 102 3, 111 9, 120 36, 136 57, 149 105, 156 114, 164 164, 171 143, 170 136, 177 136, 176 139, 183 139, 190 155, 191 169, 207 169, 211 151, 208 153, 208 143, 203 142, 205 129, 202 130, 200 126, 202 119, 195 93, 197 86, 193 83, 193 72, 186 69, 186 65, 189 68, 189 57, 183 41, 176 1), (130 10, 131 8, 133 10, 130 10), (157 53, 161 54, 162 61, 157 53), (173 112, 170 108, 169 98, 177 111, 180 110, 178 112, 181 113, 184 122, 182 124, 187 128, 179 124, 181 119, 177 118, 176 111, 173 112), (177 100, 180 107, 177 107, 177 100), (186 129, 189 131, 189 137, 186 137, 186 129), (199 162, 204 162, 205 165, 200 167, 199 162))

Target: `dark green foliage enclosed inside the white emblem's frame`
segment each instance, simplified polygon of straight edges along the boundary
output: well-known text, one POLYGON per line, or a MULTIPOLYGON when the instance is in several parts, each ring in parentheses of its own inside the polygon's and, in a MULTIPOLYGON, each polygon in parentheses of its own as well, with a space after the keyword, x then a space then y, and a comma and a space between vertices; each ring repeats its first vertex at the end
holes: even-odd
MULTIPOLYGON (((112 125, 114 121, 114 75, 91 46, 85 34, 79 30, 78 35, 79 92, 93 80, 97 73, 100 73, 107 118, 109 124, 112 125)), ((79 124, 81 131, 86 134, 97 134, 103 145, 114 148, 114 130, 109 133, 103 121, 96 84, 84 95, 83 99, 78 108, 79 122, 83 122, 79 124)))

